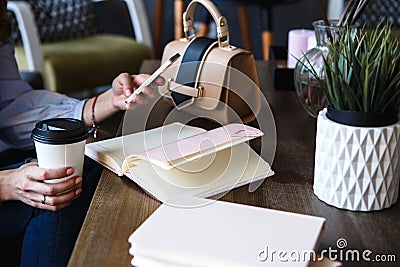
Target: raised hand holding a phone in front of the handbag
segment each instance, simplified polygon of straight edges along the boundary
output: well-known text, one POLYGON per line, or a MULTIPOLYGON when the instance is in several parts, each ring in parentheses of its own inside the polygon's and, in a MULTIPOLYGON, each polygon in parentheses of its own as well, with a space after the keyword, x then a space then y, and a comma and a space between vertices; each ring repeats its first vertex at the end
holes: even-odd
MULTIPOLYGON (((121 73, 112 83, 112 91, 114 94, 114 106, 117 106, 121 110, 132 109, 137 104, 143 104, 146 102, 145 96, 154 97, 155 92, 153 89, 146 86, 142 94, 135 95, 131 103, 126 104, 125 100, 129 97, 139 86, 150 77, 148 74, 129 75, 128 73, 121 73)), ((158 77, 155 80, 155 85, 163 85, 164 79, 158 77)))

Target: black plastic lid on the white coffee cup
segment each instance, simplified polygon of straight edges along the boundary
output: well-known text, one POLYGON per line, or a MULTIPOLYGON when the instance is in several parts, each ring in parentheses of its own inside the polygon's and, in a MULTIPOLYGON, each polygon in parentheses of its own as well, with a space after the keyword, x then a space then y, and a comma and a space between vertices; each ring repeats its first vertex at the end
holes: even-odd
POLYGON ((85 140, 89 134, 81 120, 71 118, 48 119, 36 123, 32 139, 52 145, 72 144, 85 140))

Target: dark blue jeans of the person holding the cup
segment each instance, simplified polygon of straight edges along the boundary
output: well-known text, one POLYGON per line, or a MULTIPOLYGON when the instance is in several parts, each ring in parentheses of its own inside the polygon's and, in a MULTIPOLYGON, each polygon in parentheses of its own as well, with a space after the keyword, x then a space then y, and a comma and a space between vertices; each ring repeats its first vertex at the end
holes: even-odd
POLYGON ((102 167, 85 157, 82 193, 53 212, 20 201, 0 205, 0 262, 4 266, 66 266, 102 167))

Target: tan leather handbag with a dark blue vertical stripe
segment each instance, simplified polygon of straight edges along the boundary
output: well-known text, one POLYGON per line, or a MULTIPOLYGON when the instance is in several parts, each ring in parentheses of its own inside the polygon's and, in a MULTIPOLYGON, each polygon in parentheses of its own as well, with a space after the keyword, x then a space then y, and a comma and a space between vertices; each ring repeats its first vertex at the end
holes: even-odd
POLYGON ((162 63, 176 53, 179 59, 164 73, 159 87, 176 109, 220 123, 249 123, 260 111, 259 80, 250 51, 229 43, 228 22, 209 0, 193 0, 183 14, 185 37, 168 43, 162 63), (203 5, 217 25, 217 39, 196 36, 194 11, 203 5))

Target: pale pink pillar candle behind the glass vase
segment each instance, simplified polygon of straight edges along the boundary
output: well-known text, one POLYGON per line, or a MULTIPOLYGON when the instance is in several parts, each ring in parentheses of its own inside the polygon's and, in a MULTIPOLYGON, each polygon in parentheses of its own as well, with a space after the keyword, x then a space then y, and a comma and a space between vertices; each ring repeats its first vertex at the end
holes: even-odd
POLYGON ((315 34, 312 30, 294 29, 289 31, 288 37, 288 68, 294 68, 303 53, 315 44, 315 34))

